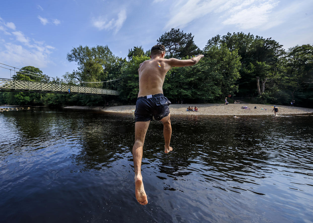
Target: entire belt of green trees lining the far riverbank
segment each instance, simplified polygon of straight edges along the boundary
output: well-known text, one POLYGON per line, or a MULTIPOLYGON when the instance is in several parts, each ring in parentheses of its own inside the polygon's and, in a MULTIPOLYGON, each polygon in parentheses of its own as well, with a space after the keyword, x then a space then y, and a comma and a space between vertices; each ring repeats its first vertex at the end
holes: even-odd
MULTIPOLYGON (((165 32, 157 42, 167 49, 166 58, 189 59, 202 51, 193 42, 191 33, 179 29, 165 32)), ((208 40, 205 55, 196 65, 173 67, 163 84, 164 94, 172 101, 222 102, 228 94, 251 95, 250 102, 313 107, 313 45, 290 48, 287 52, 275 40, 243 32, 217 35, 208 40), (253 97, 257 96, 257 97, 253 97)), ((67 54, 76 62, 77 70, 65 73, 68 81, 87 87, 102 87, 103 82, 121 78, 119 99, 136 102, 139 92, 138 68, 150 59, 150 50, 142 46, 129 49, 128 60, 115 57, 108 46, 74 47, 67 54)), ((36 67, 23 67, 13 79, 50 81, 36 67), (34 75, 34 76, 32 76, 34 75), (37 76, 37 77, 36 77, 37 76)), ((72 83, 74 84, 74 83, 72 83)), ((109 96, 0 92, 0 103, 10 105, 104 105, 109 96)), ((114 98, 116 99, 116 98, 114 98)), ((229 99, 232 103, 232 99, 229 99)))

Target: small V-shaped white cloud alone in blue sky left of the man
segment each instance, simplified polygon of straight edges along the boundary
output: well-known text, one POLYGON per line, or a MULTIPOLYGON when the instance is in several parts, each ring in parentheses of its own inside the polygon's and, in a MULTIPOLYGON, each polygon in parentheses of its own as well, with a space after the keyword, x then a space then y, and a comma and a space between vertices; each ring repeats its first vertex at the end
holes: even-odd
POLYGON ((111 30, 111 29, 115 29, 114 33, 117 33, 123 23, 126 20, 126 10, 122 9, 118 14, 117 14, 117 19, 115 20, 114 18, 110 20, 110 22, 107 22, 107 20, 105 18, 103 18, 102 16, 99 16, 97 19, 93 19, 92 21, 92 25, 96 28, 98 28, 99 30, 111 30))

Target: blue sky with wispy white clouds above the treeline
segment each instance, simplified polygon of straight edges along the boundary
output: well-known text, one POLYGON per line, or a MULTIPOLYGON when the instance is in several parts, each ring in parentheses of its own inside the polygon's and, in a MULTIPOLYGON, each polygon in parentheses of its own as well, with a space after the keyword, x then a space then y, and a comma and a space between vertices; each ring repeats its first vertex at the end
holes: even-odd
MULTIPOLYGON (((201 49, 227 32, 272 37, 287 49, 313 43, 312 9, 312 0, 2 1, 0 63, 61 77, 77 67, 66 60, 73 47, 108 45, 127 58, 172 27, 191 32, 201 49)), ((0 68, 0 77, 9 71, 0 68)))

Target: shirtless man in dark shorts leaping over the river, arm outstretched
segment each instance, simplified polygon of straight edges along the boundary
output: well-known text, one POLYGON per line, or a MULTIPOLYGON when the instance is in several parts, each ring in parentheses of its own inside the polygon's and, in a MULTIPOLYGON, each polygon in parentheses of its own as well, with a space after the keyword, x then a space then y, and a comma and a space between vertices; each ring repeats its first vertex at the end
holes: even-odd
POLYGON ((170 121, 171 102, 163 95, 163 82, 166 73, 172 67, 192 66, 199 62, 203 55, 189 60, 175 58, 164 59, 165 47, 157 44, 151 48, 150 60, 139 65, 139 93, 135 111, 135 144, 133 146, 133 160, 135 168, 135 194, 141 205, 148 203, 141 176, 142 148, 152 116, 163 123, 164 152, 172 151, 170 140, 172 127, 170 121))

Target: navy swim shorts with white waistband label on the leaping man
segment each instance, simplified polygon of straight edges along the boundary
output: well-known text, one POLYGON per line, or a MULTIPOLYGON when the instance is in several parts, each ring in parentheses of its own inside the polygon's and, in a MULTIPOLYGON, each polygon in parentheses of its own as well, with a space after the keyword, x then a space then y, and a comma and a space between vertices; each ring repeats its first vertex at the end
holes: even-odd
POLYGON ((171 102, 163 94, 148 95, 138 97, 135 110, 136 121, 150 121, 152 117, 156 121, 168 116, 171 102))

